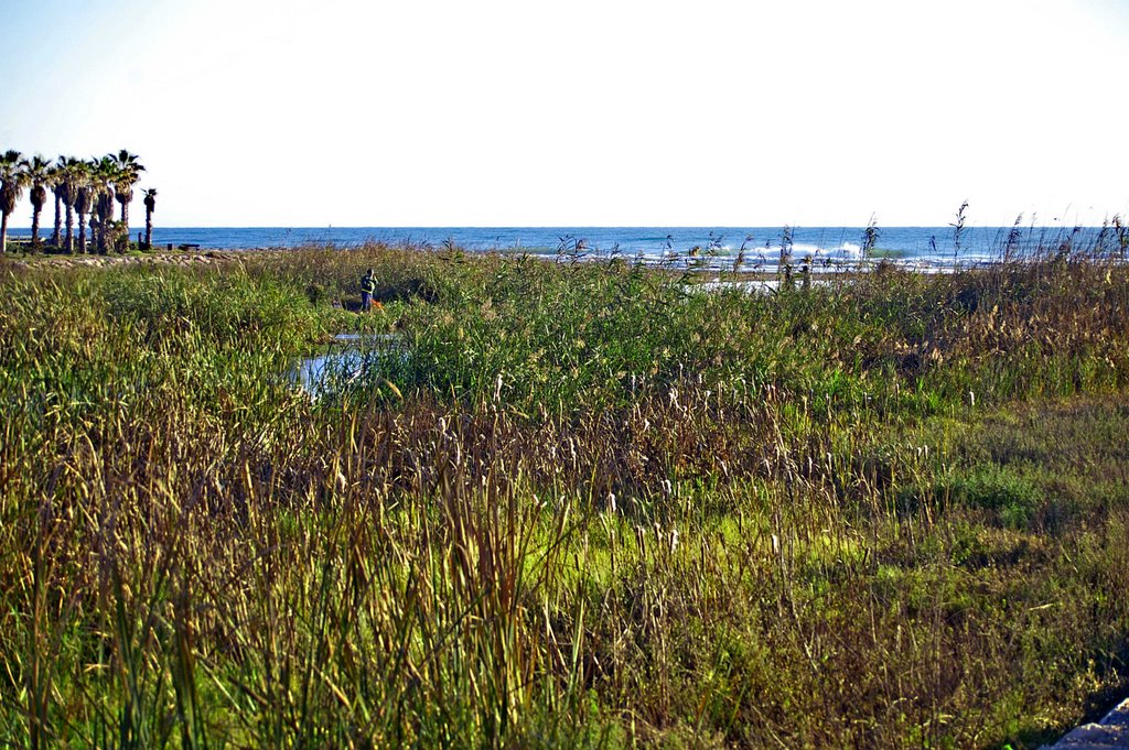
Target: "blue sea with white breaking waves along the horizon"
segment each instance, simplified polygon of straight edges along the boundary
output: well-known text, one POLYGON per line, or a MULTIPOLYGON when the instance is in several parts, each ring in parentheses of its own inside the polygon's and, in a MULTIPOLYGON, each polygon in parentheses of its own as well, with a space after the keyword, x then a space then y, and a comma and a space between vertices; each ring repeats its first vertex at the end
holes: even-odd
MULTIPOLYGON (((50 226, 46 233, 50 235, 50 226)), ((133 227, 134 238, 138 228, 133 227)), ((28 231, 14 230, 12 237, 28 231)), ((700 263, 774 268, 781 246, 790 241, 791 258, 811 257, 829 266, 851 265, 864 255, 889 258, 899 265, 949 268, 1056 252, 1109 252, 1119 247, 1113 228, 1099 227, 879 227, 868 253, 863 227, 177 227, 154 229, 158 247, 199 245, 204 249, 294 248, 331 245, 350 248, 369 241, 441 248, 453 245, 471 252, 528 253, 583 257, 622 255, 648 263, 700 263)))

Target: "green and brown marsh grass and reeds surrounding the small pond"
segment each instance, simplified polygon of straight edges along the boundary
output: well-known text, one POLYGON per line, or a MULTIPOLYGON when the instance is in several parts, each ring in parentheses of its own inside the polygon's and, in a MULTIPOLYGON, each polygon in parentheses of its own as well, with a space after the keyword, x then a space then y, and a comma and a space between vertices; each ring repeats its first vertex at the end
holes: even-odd
POLYGON ((0 743, 1021 748, 1129 688, 1124 268, 693 281, 0 266, 0 743), (397 355, 310 402, 341 332, 397 355))

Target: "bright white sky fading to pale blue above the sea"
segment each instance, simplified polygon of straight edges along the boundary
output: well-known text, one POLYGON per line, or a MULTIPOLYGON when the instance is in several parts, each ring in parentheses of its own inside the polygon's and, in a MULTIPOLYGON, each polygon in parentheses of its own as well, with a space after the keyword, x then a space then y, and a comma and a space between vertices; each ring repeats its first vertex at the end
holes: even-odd
POLYGON ((129 149, 166 227, 1099 224, 1127 39, 1129 0, 0 0, 0 149, 129 149))

